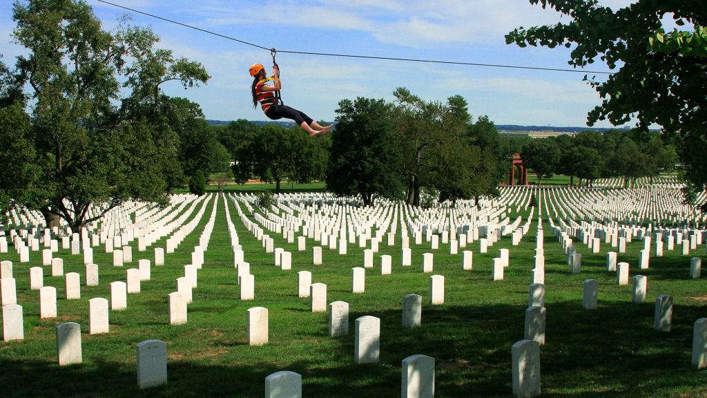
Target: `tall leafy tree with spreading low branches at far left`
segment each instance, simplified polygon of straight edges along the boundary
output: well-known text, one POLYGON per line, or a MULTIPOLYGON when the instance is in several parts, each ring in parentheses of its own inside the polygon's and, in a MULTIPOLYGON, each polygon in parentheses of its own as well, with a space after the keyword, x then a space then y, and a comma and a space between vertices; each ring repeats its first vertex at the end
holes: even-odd
POLYGON ((185 86, 205 82, 203 67, 159 57, 166 52, 149 30, 103 30, 83 1, 16 2, 13 20, 13 38, 28 50, 13 87, 26 87, 33 103, 25 138, 35 156, 25 166, 37 169, 21 204, 42 210, 49 227, 62 217, 78 231, 126 200, 167 203, 178 140, 155 93, 177 76, 185 86), (89 217, 92 205, 101 211, 89 217))

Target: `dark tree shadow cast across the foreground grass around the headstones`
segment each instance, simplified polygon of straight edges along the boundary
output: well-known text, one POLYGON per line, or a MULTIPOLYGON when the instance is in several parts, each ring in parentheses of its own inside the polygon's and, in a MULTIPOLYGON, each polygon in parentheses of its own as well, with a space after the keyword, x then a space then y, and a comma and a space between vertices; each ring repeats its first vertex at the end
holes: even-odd
MULTIPOLYGON (((690 368, 692 324, 705 315, 703 307, 676 306, 669 333, 653 331, 652 303, 602 305, 600 299, 589 311, 579 300, 546 307, 543 397, 703 396, 707 373, 690 368)), ((4 397, 261 397, 267 375, 291 370, 303 376, 305 397, 397 397, 402 359, 425 354, 436 359, 436 397, 510 397, 510 346, 523 338, 524 317, 518 305, 425 304, 422 326, 402 329, 399 311, 351 312, 348 336, 307 336, 313 348, 304 353, 289 355, 296 343, 271 341, 248 348, 257 361, 224 364, 182 357, 168 346, 168 385, 149 390, 136 387, 134 360, 125 358, 62 368, 4 361, 0 385, 11 386, 4 397), (363 315, 381 320, 380 362, 354 365, 354 323, 363 315), (317 344, 324 339, 330 339, 327 350, 317 344)), ((214 345, 227 352, 245 344, 226 336, 214 345)))

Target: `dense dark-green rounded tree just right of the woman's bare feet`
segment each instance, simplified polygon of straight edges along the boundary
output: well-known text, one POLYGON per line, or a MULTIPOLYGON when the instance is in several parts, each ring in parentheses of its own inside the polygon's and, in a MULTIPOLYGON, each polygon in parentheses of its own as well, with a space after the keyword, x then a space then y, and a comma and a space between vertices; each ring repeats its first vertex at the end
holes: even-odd
POLYGON ((327 188, 337 195, 361 195, 367 206, 378 197, 399 198, 401 156, 385 101, 343 100, 337 114, 327 188))

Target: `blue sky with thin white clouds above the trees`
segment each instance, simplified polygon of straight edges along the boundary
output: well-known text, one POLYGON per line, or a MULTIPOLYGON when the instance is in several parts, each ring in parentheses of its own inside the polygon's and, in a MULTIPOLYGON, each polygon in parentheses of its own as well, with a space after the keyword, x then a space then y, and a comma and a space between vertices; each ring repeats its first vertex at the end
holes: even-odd
MULTIPOLYGON (((86 0, 104 28, 114 28, 126 11, 86 0)), ((335 52, 376 57, 438 59, 484 64, 568 68, 564 47, 506 45, 504 35, 518 26, 555 24, 559 13, 527 0, 111 0, 112 3, 195 25, 280 50, 335 52)), ((628 0, 604 0, 618 8, 628 0)), ((269 52, 133 13, 134 25, 151 26, 160 47, 201 62, 212 76, 187 91, 177 82, 165 92, 199 103, 208 119, 266 119, 250 100, 254 62, 271 67, 269 52)), ((566 17, 565 17, 566 20, 566 17)), ((0 53, 6 64, 23 52, 11 43, 11 1, 0 2, 0 53)), ((583 126, 600 98, 583 74, 524 69, 422 64, 373 59, 279 54, 282 98, 315 120, 334 120, 337 103, 358 96, 392 100, 407 87, 427 101, 460 94, 474 118, 496 124, 583 126)), ((595 63, 592 70, 608 71, 595 63)), ((609 123, 597 123, 609 127, 609 123)))

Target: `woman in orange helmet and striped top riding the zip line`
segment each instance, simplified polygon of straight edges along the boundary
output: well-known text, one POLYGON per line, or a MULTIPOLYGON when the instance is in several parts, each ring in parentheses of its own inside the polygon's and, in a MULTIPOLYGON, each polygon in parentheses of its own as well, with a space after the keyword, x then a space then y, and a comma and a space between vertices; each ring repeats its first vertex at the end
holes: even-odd
POLYGON ((332 130, 334 125, 322 127, 305 113, 285 106, 278 101, 276 92, 280 91, 280 69, 277 64, 272 67, 272 76, 267 77, 263 64, 252 64, 250 66, 250 76, 253 76, 253 84, 250 86, 250 92, 253 97, 253 108, 260 103, 265 115, 271 120, 281 118, 292 119, 297 123, 302 130, 309 133, 310 136, 324 134, 332 130), (274 86, 269 86, 268 81, 273 81, 274 86))

